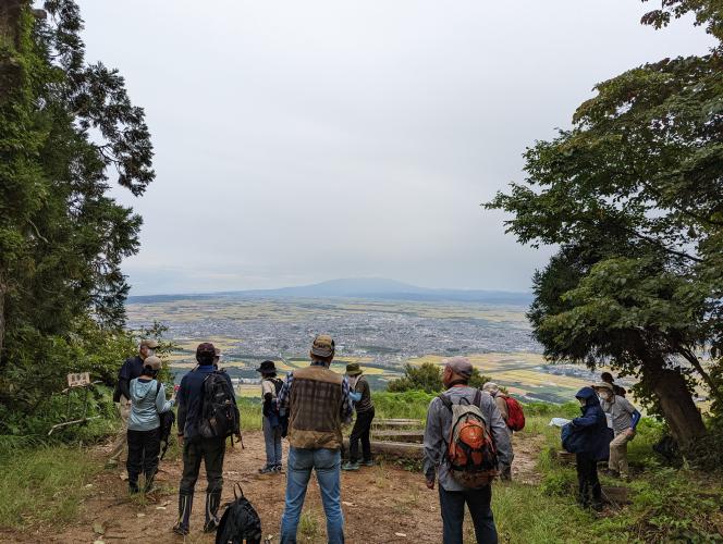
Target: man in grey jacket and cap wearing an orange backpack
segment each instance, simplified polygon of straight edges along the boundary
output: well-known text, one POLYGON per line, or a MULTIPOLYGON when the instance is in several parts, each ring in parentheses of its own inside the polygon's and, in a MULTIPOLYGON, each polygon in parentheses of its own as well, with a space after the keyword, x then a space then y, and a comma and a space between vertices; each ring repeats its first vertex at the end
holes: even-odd
POLYGON ((478 543, 498 542, 491 482, 498 466, 511 462, 510 434, 492 397, 468 385, 473 366, 466 357, 446 360, 446 391, 432 399, 425 429, 427 487, 439 480, 443 543, 462 544, 465 504, 478 543))

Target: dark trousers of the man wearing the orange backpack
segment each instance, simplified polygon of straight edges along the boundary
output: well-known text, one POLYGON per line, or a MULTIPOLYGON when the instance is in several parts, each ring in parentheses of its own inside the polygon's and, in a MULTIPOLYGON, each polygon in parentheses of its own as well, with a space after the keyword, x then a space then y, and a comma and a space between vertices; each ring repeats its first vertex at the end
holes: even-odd
POLYGON ((465 504, 475 526, 478 544, 497 544, 498 535, 492 517, 492 486, 481 490, 445 491, 439 486, 439 503, 442 510, 442 542, 462 544, 462 527, 465 519, 465 504))

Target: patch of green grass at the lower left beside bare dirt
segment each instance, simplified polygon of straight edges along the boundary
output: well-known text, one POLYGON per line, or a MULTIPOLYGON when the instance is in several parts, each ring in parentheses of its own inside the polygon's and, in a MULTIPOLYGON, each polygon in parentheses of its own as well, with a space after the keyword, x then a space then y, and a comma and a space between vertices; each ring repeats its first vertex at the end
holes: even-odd
MULTIPOLYGON (((0 441, 2 444, 2 441, 0 441)), ((39 447, 0 453, 0 527, 62 524, 77 514, 101 466, 87 452, 39 447)))

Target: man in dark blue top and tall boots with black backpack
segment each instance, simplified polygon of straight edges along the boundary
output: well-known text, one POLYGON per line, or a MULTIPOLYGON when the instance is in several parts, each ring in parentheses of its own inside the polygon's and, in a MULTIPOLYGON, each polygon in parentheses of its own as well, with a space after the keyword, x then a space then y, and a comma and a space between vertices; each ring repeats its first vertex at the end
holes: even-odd
MULTIPOLYGON (((179 521, 173 527, 177 534, 188 534, 194 490, 200 462, 206 467, 206 522, 204 532, 212 532, 219 523, 218 510, 223 489, 223 457, 228 433, 241 440, 238 409, 233 394, 231 378, 213 368, 216 349, 210 342, 196 348, 198 367, 183 376, 177 393, 179 445, 183 447, 183 475, 179 486, 179 521), (211 398, 205 393, 212 391, 213 405, 205 406, 211 398), (213 421, 205 418, 213 409, 213 421), (220 434, 209 431, 210 424, 219 425, 220 434), (208 434, 213 434, 208 436, 208 434)), ((213 430, 213 429, 210 429, 213 430)))

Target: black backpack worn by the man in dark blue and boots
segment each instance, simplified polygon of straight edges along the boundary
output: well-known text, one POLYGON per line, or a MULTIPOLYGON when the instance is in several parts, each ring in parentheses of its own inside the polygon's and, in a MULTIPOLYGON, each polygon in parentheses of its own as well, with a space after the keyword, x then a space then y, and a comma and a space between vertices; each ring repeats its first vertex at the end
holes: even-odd
POLYGON ((198 431, 204 438, 225 438, 238 429, 238 409, 233 390, 222 371, 204 379, 203 406, 198 431))

